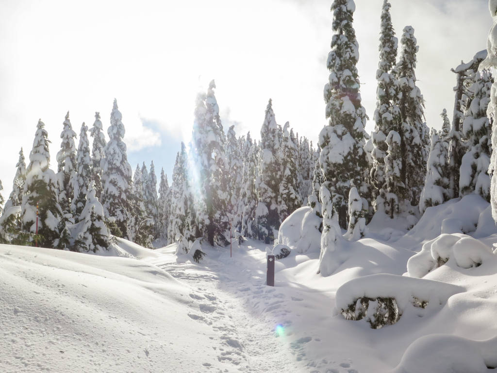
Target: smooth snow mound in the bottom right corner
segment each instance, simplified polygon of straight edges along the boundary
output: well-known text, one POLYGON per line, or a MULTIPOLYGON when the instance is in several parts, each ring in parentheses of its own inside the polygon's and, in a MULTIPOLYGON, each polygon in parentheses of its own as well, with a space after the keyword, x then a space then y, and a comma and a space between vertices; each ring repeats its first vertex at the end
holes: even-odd
POLYGON ((472 341, 431 334, 414 341, 392 373, 484 373, 497 367, 497 337, 472 341))

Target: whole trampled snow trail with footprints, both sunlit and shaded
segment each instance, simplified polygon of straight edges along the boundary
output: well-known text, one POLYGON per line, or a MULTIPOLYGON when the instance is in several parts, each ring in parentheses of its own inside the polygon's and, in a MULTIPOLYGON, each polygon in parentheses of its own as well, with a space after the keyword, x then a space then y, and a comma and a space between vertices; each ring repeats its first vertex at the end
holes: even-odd
POLYGON ((205 367, 212 372, 357 372, 349 360, 308 359, 306 345, 320 339, 291 328, 291 320, 300 316, 292 315, 292 305, 304 299, 296 289, 265 285, 265 267, 260 268, 264 252, 248 246, 230 258, 229 251, 223 251, 216 259, 209 253, 211 258, 201 265, 164 262, 165 258, 154 263, 191 286, 188 316, 217 335, 210 337, 217 338, 212 347, 217 361, 206 361, 205 367))

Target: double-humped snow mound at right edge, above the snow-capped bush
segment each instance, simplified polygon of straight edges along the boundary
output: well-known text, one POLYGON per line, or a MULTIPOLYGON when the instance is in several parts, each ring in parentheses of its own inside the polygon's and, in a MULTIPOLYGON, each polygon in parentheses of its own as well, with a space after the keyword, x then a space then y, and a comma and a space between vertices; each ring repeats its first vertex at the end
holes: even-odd
POLYGON ((492 256, 492 249, 482 241, 461 233, 444 233, 426 242, 421 251, 409 259, 407 274, 410 277, 424 277, 450 258, 454 258, 460 268, 478 267, 492 256))

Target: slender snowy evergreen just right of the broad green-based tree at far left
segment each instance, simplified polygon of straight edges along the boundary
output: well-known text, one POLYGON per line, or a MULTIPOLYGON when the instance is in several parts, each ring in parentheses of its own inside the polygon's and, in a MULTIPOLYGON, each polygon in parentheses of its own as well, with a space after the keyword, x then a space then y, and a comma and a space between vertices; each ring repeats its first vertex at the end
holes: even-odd
POLYGON ((76 132, 73 130, 69 120, 69 111, 66 114, 63 126, 61 150, 57 153, 57 176, 59 178, 59 203, 63 213, 66 215, 71 213, 71 201, 74 195, 71 180, 75 177, 77 170, 76 146, 74 143, 76 132))

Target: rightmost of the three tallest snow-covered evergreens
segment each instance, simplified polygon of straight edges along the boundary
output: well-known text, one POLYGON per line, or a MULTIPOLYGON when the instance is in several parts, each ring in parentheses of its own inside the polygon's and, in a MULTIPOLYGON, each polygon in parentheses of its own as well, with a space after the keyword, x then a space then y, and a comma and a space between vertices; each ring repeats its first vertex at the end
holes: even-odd
POLYGON ((411 205, 419 203, 419 196, 424 185, 427 161, 428 127, 423 121, 423 96, 416 86, 416 45, 414 28, 404 27, 402 49, 399 62, 395 66, 397 96, 395 104, 399 107, 398 129, 401 137, 402 154, 401 181, 391 192, 397 195, 399 202, 408 200, 411 205))

